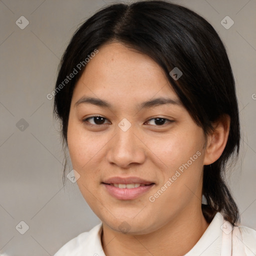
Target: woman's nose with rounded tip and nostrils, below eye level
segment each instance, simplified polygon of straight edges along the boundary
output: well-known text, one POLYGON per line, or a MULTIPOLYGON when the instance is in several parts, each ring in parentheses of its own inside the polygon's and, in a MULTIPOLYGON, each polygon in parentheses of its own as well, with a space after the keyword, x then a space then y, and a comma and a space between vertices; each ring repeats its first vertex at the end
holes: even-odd
POLYGON ((116 131, 116 135, 108 143, 107 161, 121 168, 129 168, 132 163, 143 163, 145 161, 145 145, 132 125, 126 131, 119 127, 116 131))

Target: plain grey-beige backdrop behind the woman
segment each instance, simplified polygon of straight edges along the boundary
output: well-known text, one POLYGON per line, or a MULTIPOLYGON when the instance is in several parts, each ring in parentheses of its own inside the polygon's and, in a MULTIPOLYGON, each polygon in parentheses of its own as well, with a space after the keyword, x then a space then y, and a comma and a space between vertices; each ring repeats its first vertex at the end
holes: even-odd
MULTIPOLYGON (((63 187, 59 127, 52 117, 53 100, 46 94, 53 89, 59 59, 78 24, 111 2, 0 0, 0 252, 52 255, 99 223, 76 183, 67 179, 63 187), (15 23, 22 15, 29 21, 24 29, 15 23), (24 234, 18 232, 24 224, 15 228, 21 220, 29 226, 24 234)), ((228 183, 241 224, 256 229, 256 0, 173 2, 206 18, 227 48, 242 130, 240 158, 228 183), (226 15, 234 21, 229 29, 220 23, 226 15)))

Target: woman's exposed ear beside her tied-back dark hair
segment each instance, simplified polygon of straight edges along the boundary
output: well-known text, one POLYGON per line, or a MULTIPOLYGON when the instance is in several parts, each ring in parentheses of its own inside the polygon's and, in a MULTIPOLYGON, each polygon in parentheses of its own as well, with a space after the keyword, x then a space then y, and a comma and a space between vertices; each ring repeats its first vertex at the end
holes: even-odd
POLYGON ((204 165, 213 163, 222 154, 228 138, 230 116, 227 114, 222 115, 212 126, 213 131, 207 135, 204 165))

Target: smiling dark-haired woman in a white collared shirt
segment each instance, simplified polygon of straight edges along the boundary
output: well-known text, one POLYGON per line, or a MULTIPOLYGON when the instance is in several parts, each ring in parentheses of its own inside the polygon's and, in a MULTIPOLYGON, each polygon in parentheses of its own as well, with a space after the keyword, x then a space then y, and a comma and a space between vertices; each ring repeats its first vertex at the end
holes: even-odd
POLYGON ((54 95, 76 182, 102 221, 55 256, 255 255, 224 181, 238 107, 206 20, 164 1, 103 8, 73 35, 54 95))

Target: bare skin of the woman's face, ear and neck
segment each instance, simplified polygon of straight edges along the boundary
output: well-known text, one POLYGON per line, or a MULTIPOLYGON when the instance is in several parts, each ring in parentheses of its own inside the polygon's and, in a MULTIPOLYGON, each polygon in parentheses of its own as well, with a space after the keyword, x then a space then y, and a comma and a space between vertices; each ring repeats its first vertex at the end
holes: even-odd
POLYGON ((214 124, 205 136, 182 104, 150 108, 136 106, 156 97, 178 101, 162 69, 150 57, 112 42, 101 46, 86 65, 72 95, 67 144, 78 187, 101 219, 104 253, 112 255, 183 255, 208 224, 201 211, 202 169, 222 153, 229 118, 214 124), (108 101, 111 108, 90 103, 75 105, 83 96, 108 101), (104 117, 96 124, 93 115, 104 117), (156 117, 166 118, 157 125, 156 117), (123 131, 118 123, 131 126, 123 131), (89 125, 91 124, 91 126, 89 125), (149 200, 196 152, 200 155, 153 202, 149 200), (155 183, 132 200, 119 200, 102 181, 136 176, 155 183), (128 223, 122 233, 120 225, 128 223))

